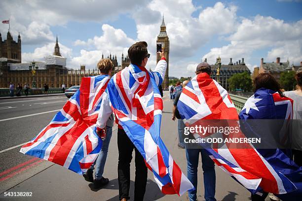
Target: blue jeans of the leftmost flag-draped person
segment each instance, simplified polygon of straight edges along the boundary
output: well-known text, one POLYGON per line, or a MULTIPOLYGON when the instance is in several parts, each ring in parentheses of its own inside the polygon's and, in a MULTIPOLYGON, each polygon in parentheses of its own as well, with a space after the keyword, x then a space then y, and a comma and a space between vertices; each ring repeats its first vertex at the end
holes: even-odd
POLYGON ((102 148, 99 152, 98 158, 91 165, 91 167, 89 167, 90 169, 94 169, 94 166, 96 165, 95 179, 101 179, 104 173, 108 147, 112 136, 112 127, 106 126, 106 130, 107 130, 106 139, 103 141, 102 148))

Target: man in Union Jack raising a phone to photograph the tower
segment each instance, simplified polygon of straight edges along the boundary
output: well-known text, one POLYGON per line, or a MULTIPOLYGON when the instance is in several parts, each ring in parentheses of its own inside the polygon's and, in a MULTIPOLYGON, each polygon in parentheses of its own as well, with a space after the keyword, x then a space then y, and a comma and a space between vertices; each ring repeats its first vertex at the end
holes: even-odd
POLYGON ((118 185, 119 200, 129 200, 130 162, 135 150, 134 200, 143 201, 147 184, 147 167, 164 194, 182 195, 193 185, 173 160, 160 138, 163 102, 158 90, 167 63, 164 51, 154 71, 145 66, 150 54, 147 43, 137 42, 128 49, 131 64, 117 72, 108 84, 109 99, 104 97, 98 130, 104 132, 108 117, 114 112, 118 123, 118 185))

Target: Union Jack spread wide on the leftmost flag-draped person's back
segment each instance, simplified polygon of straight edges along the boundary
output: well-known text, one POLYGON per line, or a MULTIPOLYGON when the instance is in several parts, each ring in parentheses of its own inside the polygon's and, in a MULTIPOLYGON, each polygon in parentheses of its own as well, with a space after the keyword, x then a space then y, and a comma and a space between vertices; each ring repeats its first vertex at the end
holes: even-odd
POLYGON ((35 138, 20 152, 59 164, 82 174, 102 146, 96 121, 108 75, 83 77, 80 89, 35 138))

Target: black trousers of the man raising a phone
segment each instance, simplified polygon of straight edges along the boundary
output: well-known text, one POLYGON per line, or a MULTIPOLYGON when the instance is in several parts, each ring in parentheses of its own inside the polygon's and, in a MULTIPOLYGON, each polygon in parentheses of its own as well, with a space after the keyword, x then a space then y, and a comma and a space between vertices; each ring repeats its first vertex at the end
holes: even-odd
POLYGON ((119 200, 129 197, 130 189, 130 162, 132 160, 132 152, 135 150, 135 182, 134 182, 134 201, 143 201, 146 192, 147 174, 144 158, 136 149, 132 141, 124 130, 117 131, 117 147, 118 147, 118 192, 119 200))

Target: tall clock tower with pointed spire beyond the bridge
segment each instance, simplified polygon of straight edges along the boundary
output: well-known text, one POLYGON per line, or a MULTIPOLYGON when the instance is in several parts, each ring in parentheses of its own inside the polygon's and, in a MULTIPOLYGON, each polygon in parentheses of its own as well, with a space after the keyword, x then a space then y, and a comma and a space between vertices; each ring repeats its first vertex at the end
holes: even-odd
MULTIPOLYGON (((167 70, 164 77, 164 80, 162 82, 162 89, 168 89, 169 87, 169 38, 166 33, 166 25, 164 22, 164 18, 162 17, 162 23, 160 25, 160 32, 157 36, 156 44, 161 44, 161 46, 164 48, 165 51, 165 58, 167 61, 167 70)), ((160 60, 159 54, 156 55, 156 63, 160 60)))

